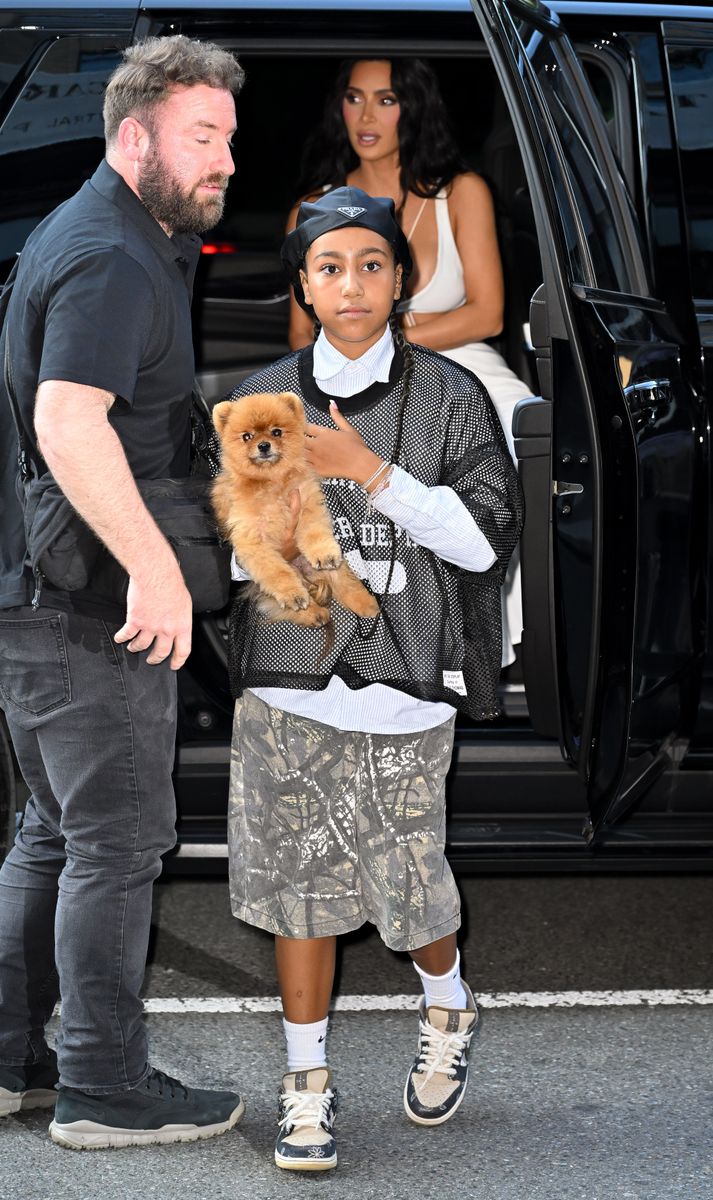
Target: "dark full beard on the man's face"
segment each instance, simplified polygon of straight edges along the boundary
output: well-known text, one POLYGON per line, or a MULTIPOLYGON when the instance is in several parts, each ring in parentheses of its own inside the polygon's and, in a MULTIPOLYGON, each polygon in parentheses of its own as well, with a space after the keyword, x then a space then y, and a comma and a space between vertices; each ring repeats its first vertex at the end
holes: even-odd
POLYGON ((227 175, 206 175, 186 193, 168 163, 154 146, 142 166, 138 193, 149 212, 172 233, 205 233, 212 229, 223 215, 226 205, 227 175), (211 184, 222 188, 216 196, 198 197, 198 187, 211 184))

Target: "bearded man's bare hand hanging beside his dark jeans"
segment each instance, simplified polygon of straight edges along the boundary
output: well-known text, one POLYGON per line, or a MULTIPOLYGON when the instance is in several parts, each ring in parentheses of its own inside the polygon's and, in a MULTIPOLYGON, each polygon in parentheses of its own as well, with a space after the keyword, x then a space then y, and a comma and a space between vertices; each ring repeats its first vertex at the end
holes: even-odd
POLYGON ((126 622, 114 634, 115 642, 128 642, 132 653, 149 650, 146 662, 155 666, 170 654, 170 670, 178 671, 191 653, 193 610, 191 594, 178 563, 175 570, 156 570, 150 580, 130 577, 126 622))

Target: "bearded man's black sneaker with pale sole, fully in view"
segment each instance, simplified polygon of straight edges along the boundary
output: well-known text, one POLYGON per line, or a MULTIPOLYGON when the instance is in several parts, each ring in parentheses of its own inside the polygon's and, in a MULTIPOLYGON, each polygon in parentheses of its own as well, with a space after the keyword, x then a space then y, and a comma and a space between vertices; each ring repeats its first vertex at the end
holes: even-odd
POLYGON ((232 1129, 244 1112, 245 1104, 235 1092, 184 1087, 178 1079, 152 1069, 128 1092, 90 1096, 60 1087, 49 1135, 68 1150, 198 1141, 232 1129))

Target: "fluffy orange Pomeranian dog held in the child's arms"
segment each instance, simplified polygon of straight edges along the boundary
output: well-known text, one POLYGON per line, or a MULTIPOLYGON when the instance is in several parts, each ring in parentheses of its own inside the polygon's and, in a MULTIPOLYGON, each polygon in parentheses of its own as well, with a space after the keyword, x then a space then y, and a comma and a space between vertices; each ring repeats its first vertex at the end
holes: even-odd
POLYGON ((379 606, 343 562, 319 479, 307 463, 299 396, 283 391, 222 401, 212 420, 222 446, 212 505, 223 535, 253 580, 260 613, 269 620, 319 628, 330 624, 334 596, 360 617, 376 617, 379 606), (299 556, 288 563, 280 547, 294 522, 295 491, 299 556))

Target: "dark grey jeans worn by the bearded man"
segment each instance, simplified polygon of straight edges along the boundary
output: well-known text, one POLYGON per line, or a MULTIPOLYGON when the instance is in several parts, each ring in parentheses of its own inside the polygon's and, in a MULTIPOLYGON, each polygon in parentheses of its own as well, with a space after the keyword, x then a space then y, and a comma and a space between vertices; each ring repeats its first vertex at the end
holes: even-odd
POLYGON ((151 884, 175 842, 175 672, 118 628, 0 611, 0 706, 31 791, 0 870, 0 1063, 47 1054, 61 995, 60 1081, 96 1093, 149 1069, 151 884))

